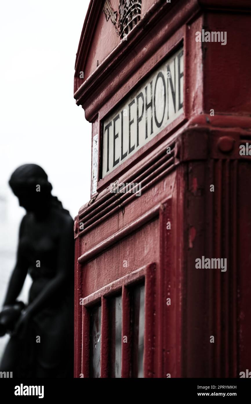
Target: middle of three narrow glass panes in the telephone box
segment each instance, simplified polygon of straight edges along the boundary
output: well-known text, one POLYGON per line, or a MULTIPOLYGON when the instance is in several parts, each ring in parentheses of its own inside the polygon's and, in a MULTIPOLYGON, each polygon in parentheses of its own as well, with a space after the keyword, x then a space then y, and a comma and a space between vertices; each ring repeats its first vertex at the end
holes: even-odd
POLYGON ((110 377, 121 377, 122 299, 110 300, 110 377))

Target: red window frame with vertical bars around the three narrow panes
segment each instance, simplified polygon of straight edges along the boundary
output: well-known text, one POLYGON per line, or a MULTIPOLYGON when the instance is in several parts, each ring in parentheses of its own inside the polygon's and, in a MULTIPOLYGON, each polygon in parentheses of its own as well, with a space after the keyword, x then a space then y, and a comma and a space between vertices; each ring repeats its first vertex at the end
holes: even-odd
POLYGON ((83 299, 83 344, 82 374, 83 377, 90 377, 90 309, 101 303, 101 377, 109 375, 109 305, 108 299, 116 293, 122 292, 122 335, 129 336, 127 343, 122 341, 122 366, 121 377, 130 377, 131 364, 131 330, 130 330, 130 288, 139 282, 145 282, 145 332, 144 332, 144 356, 143 368, 144 377, 152 377, 154 374, 154 312, 156 310, 155 296, 155 274, 156 264, 152 263, 137 271, 123 276, 104 288, 83 299))

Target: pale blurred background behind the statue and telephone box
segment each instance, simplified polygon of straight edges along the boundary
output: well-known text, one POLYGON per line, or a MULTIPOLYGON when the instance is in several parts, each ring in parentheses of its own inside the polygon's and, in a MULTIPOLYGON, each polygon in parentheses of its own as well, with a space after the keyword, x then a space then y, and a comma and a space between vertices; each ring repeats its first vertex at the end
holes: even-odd
MULTIPOLYGON (((75 56, 89 0, 12 0, 0 14, 0 305, 25 210, 8 180, 39 164, 74 218, 90 199, 91 124, 73 98, 75 56)), ((22 294, 27 301, 27 278, 22 294)), ((8 336, 0 338, 0 357, 8 336)))

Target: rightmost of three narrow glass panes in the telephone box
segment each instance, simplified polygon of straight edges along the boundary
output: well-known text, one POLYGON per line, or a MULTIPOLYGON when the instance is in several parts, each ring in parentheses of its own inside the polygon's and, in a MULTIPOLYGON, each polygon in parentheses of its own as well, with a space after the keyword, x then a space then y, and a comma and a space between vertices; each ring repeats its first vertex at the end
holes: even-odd
POLYGON ((144 377, 145 285, 132 292, 132 377, 144 377))

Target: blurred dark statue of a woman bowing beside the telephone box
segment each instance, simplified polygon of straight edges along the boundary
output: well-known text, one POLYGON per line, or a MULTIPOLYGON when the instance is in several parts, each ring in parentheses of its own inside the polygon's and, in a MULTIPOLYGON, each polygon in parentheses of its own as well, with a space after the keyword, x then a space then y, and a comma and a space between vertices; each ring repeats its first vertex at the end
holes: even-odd
POLYGON ((9 184, 27 213, 2 313, 18 307, 27 273, 33 282, 0 371, 12 372, 13 377, 73 377, 73 219, 52 196, 52 185, 40 166, 17 168, 9 184))

